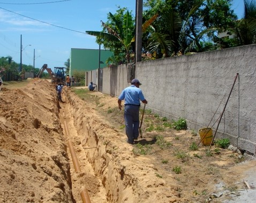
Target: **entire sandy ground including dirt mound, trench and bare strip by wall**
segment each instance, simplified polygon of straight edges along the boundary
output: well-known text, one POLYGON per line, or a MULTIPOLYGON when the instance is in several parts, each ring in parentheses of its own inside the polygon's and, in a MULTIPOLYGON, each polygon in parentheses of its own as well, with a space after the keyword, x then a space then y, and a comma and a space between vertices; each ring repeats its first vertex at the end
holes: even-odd
POLYGON ((82 202, 84 189, 95 203, 254 202, 253 156, 221 149, 207 157, 208 146, 201 145, 191 151, 199 136, 191 130, 147 132, 152 115, 145 115, 143 138, 129 145, 117 99, 90 93, 99 98, 97 104, 66 87, 65 103, 58 103, 54 87, 43 80, 2 89, 0 202, 82 202), (163 145, 157 145, 157 135, 164 137, 163 145), (68 142, 80 171, 74 169, 68 142), (142 155, 138 144, 151 148, 142 155), (176 174, 175 166, 182 173, 176 174))

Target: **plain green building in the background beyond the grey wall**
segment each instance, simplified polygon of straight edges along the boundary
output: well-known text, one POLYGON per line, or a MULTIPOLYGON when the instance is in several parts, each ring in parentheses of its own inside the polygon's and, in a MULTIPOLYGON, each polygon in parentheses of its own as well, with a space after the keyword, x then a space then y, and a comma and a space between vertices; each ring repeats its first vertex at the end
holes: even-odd
POLYGON ((92 71, 99 68, 107 67, 106 60, 111 57, 113 53, 109 50, 99 49, 75 49, 71 48, 70 53, 70 69, 73 71, 92 71), (100 52, 100 60, 99 60, 100 52))

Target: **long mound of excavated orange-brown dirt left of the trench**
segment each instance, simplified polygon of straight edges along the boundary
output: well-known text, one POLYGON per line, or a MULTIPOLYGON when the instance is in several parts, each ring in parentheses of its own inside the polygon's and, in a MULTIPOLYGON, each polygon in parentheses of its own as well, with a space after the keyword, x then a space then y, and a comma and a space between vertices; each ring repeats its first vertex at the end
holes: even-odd
POLYGON ((56 92, 46 81, 0 98, 0 202, 72 202, 56 92))

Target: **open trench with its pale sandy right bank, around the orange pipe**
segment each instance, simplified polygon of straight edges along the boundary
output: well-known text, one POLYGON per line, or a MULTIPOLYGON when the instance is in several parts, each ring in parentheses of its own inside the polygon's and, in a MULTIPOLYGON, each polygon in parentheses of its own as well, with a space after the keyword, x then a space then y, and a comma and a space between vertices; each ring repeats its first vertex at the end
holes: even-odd
POLYGON ((72 142, 81 170, 70 161, 72 193, 77 202, 82 202, 85 189, 91 202, 152 202, 168 196, 170 189, 163 186, 162 179, 156 179, 150 160, 134 156, 124 134, 70 89, 64 95, 66 102, 61 104, 59 115, 66 123, 63 129, 68 130, 66 143, 72 142), (141 166, 140 159, 147 165, 141 166), (161 192, 155 190, 159 187, 163 187, 161 192))

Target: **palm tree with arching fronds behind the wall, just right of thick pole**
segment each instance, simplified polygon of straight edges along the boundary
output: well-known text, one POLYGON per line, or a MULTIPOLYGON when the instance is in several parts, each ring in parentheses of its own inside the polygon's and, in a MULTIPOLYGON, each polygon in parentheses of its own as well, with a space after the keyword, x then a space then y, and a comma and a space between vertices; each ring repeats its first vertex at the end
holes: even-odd
POLYGON ((159 57, 170 57, 195 49, 204 50, 206 47, 201 41, 207 32, 215 28, 204 28, 202 19, 194 15, 203 2, 204 0, 197 1, 186 19, 182 19, 181 13, 174 8, 175 5, 166 4, 160 14, 162 24, 153 26, 154 32, 149 37, 149 51, 157 53, 159 57))

